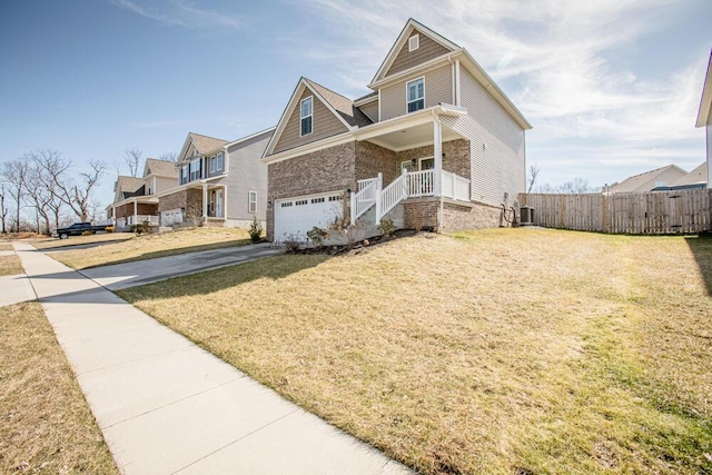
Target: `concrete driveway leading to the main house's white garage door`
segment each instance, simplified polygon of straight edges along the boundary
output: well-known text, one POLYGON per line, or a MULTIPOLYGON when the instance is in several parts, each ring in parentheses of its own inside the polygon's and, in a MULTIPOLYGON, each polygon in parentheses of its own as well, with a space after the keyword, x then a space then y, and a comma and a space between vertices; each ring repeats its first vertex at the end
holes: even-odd
POLYGON ((166 280, 171 277, 187 276, 204 270, 235 266, 269 256, 281 254, 281 247, 271 244, 255 244, 225 249, 202 250, 178 256, 158 257, 136 263, 115 264, 80 270, 80 274, 95 280, 109 290, 135 287, 166 280))

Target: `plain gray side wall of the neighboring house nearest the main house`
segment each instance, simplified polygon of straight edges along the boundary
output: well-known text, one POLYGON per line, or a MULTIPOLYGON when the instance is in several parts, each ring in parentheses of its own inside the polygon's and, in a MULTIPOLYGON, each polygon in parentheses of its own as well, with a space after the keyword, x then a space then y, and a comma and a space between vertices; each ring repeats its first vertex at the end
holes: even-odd
POLYGON ((271 131, 265 132, 228 148, 229 171, 219 180, 227 188, 226 219, 250 221, 257 216, 257 220, 265 221, 267 218, 267 165, 260 159, 270 137, 271 131), (249 191, 257 192, 257 214, 249 212, 249 191))

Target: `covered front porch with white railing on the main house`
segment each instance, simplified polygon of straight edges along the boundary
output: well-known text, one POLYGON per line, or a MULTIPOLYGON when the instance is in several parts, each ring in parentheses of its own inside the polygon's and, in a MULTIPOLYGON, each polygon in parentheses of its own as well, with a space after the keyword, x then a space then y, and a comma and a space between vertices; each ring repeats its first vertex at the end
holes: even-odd
MULTIPOLYGON (((358 132, 360 141, 394 154, 392 159, 384 161, 386 169, 357 180, 357 189, 352 194, 352 224, 372 208, 375 208, 375 224, 378 224, 395 206, 412 198, 471 202, 469 142, 441 121, 442 116, 465 113, 463 108, 441 105, 374 123, 358 132), (392 162, 397 170, 395 178, 393 170, 387 169, 392 162), (388 178, 384 179, 384 176, 388 178)), ((359 154, 356 155, 357 169, 358 160, 359 154)))

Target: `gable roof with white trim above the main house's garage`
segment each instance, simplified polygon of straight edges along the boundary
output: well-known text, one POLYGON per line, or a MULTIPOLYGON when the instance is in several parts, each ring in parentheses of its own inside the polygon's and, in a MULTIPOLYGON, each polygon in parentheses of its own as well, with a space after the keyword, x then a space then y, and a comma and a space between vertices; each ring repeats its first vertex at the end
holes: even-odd
POLYGON ((373 121, 354 106, 354 101, 344 97, 333 90, 325 88, 324 86, 314 82, 310 79, 305 77, 299 78, 299 82, 297 82, 297 87, 294 89, 291 97, 289 98, 289 102, 285 108, 279 121, 277 122, 277 128, 275 129, 275 133, 269 139, 269 144, 267 144, 267 148, 265 149, 265 156, 271 154, 274 151, 275 146, 279 141, 281 133, 287 125, 287 121, 294 113, 295 109, 298 107, 299 98, 305 89, 312 91, 312 93, 322 102, 326 108, 346 127, 347 130, 352 130, 357 127, 367 126, 373 123, 373 121))

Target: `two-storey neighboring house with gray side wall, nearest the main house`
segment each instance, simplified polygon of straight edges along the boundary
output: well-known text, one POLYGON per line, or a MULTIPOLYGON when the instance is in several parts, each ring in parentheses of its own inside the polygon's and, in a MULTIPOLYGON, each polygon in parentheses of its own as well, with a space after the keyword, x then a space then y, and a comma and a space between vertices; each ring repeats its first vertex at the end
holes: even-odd
POLYGON ((178 176, 158 195, 161 226, 247 227, 265 222, 267 167, 260 158, 274 128, 235 141, 188 133, 178 176))

